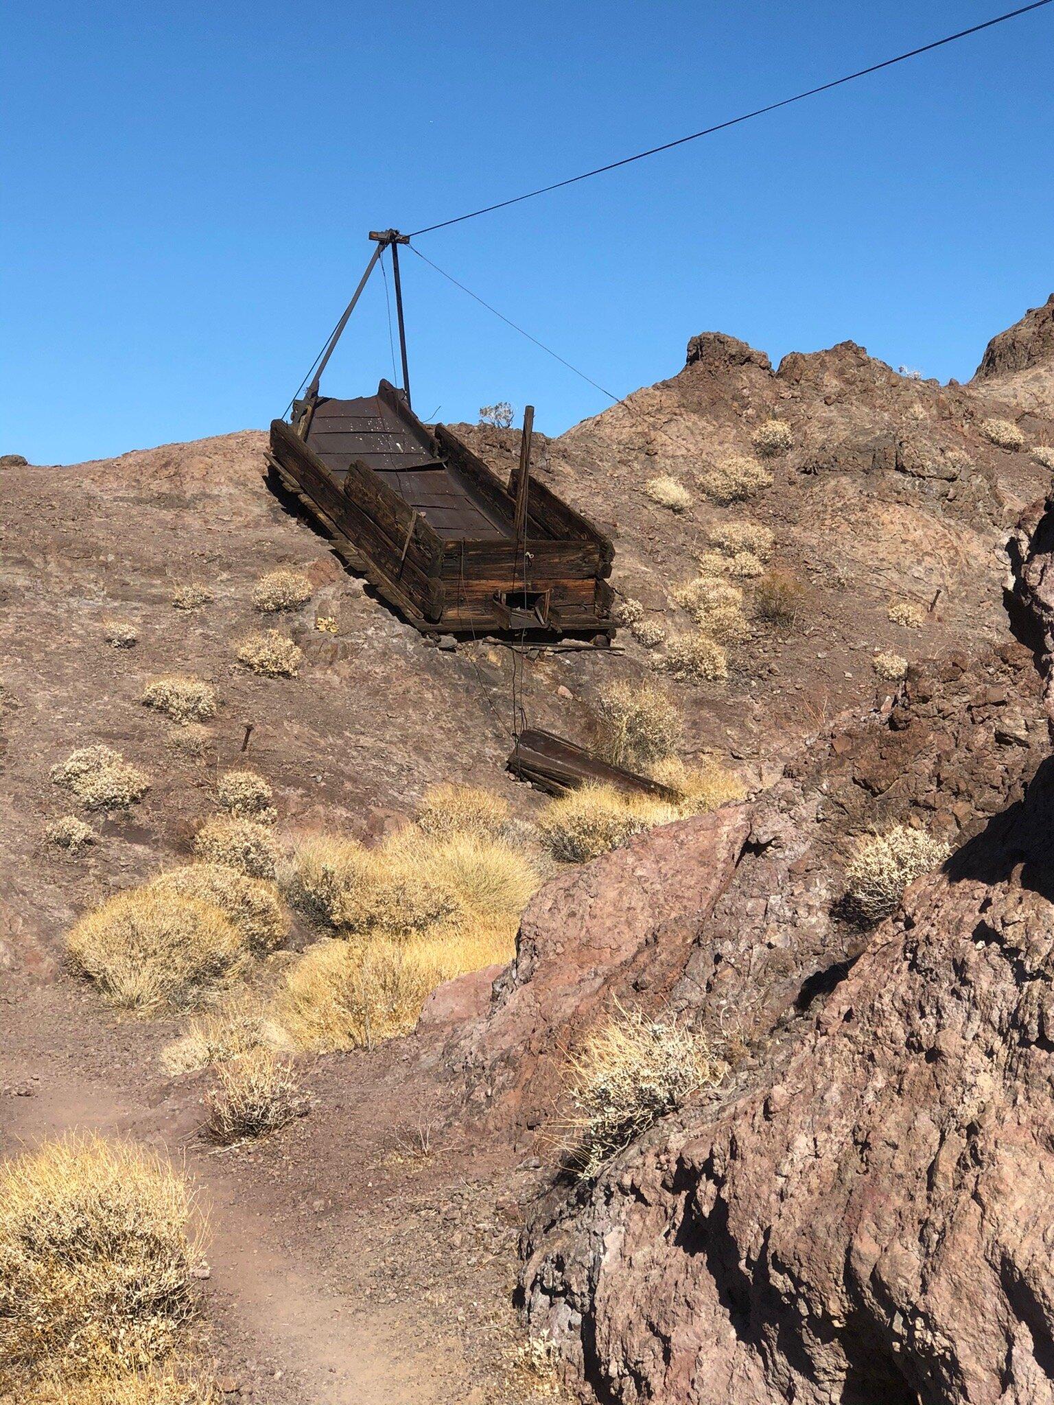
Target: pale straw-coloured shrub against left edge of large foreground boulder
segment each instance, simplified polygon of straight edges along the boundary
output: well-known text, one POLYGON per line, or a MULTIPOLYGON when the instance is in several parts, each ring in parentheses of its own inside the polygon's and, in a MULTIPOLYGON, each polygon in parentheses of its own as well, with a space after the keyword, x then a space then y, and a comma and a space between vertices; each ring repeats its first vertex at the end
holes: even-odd
POLYGON ((568 1152, 583 1179, 675 1111, 697 1089, 720 1082, 724 1065, 701 1034, 618 1007, 593 1030, 566 1071, 568 1152))

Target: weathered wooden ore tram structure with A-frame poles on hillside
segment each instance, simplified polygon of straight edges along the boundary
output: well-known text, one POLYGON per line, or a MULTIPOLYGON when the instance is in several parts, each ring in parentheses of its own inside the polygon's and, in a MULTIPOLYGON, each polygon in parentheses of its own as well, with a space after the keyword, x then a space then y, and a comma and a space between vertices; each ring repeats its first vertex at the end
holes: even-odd
POLYGON ((530 475, 534 410, 507 483, 445 424, 410 405, 398 249, 377 249, 291 423, 271 423, 268 478, 299 497, 334 551, 423 632, 531 638, 589 635, 607 643, 611 541, 530 475), (319 382, 381 253, 391 249, 403 386, 334 399, 319 382))

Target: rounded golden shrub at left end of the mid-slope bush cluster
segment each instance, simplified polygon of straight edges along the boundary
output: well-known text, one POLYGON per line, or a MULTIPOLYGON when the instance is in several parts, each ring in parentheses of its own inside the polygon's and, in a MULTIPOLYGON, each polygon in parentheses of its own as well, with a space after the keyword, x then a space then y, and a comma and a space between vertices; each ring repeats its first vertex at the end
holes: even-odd
POLYGON ((110 898, 66 933, 72 968, 114 1005, 138 1010, 193 1006, 236 974, 246 948, 215 903, 153 885, 110 898))

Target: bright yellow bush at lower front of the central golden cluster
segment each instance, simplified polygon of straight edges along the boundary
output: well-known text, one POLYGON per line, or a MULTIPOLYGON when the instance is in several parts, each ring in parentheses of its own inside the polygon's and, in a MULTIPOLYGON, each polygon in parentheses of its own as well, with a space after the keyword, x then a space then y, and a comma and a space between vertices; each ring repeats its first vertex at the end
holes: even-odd
POLYGON ((291 1048, 372 1048, 409 1034, 429 993, 444 979, 429 947, 323 940, 285 972, 274 1019, 291 1048))

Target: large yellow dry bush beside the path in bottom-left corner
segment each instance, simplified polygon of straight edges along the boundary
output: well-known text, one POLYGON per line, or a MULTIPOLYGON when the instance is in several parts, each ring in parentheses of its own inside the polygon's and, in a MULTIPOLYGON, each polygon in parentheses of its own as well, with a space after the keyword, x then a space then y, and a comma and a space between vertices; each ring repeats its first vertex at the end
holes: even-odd
POLYGON ((148 1368, 194 1315, 200 1263, 193 1194, 155 1154, 70 1135, 7 1162, 0 1385, 21 1381, 21 1397, 51 1373, 91 1381, 100 1363, 117 1373, 148 1368))

